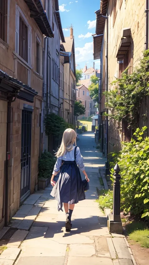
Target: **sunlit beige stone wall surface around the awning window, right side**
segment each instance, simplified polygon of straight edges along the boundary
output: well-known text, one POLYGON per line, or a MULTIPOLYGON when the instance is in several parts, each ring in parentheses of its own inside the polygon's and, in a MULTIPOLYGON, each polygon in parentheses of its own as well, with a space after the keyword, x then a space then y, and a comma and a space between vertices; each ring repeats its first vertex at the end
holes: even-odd
MULTIPOLYGON (((113 0, 109 1, 108 5, 108 89, 112 88, 110 85, 113 80, 119 77, 119 64, 117 62, 117 52, 122 37, 123 28, 131 28, 131 60, 130 70, 134 70, 139 64, 139 59, 142 57, 145 42, 145 1, 130 0, 123 1, 122 6, 119 7, 117 1, 116 19, 113 23, 113 0)), ((105 90, 105 72, 106 72, 106 25, 104 31, 104 43, 102 45, 102 90, 105 90)), ((105 98, 102 98, 101 111, 105 108, 105 98)), ((143 112, 143 106, 141 112, 143 112)), ((144 124, 142 118, 140 125, 144 124)), ((121 128, 115 122, 109 121, 109 147, 108 152, 115 152, 121 148, 120 141, 124 139, 121 133, 121 128)))

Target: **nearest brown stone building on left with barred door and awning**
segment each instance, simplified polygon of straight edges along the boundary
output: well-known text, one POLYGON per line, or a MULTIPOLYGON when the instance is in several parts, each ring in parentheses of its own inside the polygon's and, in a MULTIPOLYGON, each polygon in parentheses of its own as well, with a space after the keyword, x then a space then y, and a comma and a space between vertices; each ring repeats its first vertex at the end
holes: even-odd
POLYGON ((41 152, 42 51, 53 31, 45 1, 1 1, 0 228, 33 193, 41 152))

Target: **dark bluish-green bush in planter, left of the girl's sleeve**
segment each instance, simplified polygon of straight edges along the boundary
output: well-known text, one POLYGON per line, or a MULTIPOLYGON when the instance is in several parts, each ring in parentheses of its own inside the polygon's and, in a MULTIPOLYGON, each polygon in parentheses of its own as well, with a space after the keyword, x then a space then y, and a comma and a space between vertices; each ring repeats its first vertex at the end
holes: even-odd
POLYGON ((38 178, 49 178, 52 175, 56 158, 49 152, 42 153, 39 158, 39 174, 38 178))

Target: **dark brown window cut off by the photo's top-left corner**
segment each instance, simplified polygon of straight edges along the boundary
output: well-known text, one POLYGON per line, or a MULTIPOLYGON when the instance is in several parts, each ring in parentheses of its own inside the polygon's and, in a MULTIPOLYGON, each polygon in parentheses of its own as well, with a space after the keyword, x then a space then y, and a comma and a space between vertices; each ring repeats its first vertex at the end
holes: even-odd
POLYGON ((7 1, 0 0, 0 38, 6 40, 7 35, 7 1))

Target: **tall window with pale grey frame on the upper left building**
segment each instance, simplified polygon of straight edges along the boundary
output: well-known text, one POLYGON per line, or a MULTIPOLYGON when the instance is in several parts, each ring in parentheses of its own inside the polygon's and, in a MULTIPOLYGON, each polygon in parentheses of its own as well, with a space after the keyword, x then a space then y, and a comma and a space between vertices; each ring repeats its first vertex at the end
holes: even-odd
POLYGON ((15 52, 31 65, 31 27, 22 10, 16 5, 15 52))

